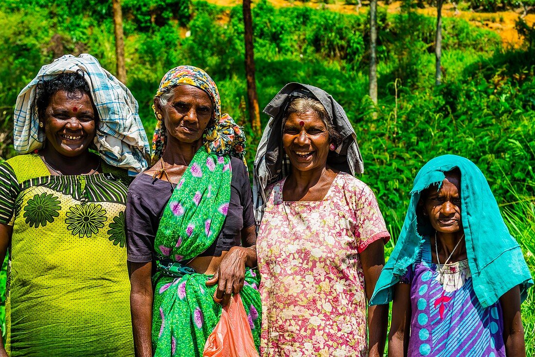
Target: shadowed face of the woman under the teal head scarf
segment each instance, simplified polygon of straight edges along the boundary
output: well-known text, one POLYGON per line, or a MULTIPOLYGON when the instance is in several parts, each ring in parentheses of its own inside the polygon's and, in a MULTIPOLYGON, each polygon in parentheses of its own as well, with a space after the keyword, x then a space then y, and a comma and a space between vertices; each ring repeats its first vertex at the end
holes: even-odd
POLYGON ((461 178, 446 173, 442 187, 437 192, 431 188, 424 202, 424 212, 437 232, 455 233, 462 230, 461 178))

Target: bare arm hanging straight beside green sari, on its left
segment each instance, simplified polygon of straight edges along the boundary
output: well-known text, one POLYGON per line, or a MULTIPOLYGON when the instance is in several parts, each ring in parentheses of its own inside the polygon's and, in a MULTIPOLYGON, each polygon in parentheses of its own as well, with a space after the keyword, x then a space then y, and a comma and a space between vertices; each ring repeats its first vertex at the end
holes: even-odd
POLYGON ((128 262, 130 271, 130 309, 136 357, 152 357, 152 262, 128 262))

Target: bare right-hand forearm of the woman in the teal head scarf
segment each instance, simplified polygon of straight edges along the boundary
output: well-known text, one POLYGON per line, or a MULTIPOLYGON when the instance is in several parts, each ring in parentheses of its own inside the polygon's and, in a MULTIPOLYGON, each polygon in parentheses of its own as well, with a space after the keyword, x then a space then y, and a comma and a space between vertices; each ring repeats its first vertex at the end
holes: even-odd
POLYGON ((520 287, 517 285, 500 298, 503 313, 503 343, 507 357, 525 357, 524 326, 520 314, 520 287))

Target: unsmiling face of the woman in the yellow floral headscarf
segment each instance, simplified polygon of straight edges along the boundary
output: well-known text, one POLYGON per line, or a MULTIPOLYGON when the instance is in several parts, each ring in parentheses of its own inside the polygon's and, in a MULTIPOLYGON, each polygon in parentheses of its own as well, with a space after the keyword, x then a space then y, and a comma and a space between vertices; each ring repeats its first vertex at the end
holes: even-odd
POLYGON ((190 85, 174 87, 165 107, 157 106, 164 117, 167 134, 181 142, 202 139, 212 117, 212 101, 204 90, 190 85))

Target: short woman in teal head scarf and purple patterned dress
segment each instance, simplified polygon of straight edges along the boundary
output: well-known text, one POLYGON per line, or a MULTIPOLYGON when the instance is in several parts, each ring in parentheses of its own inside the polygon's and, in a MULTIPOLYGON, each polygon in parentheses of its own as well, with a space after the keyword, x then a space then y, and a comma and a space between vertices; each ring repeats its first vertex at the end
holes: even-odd
POLYGON ((525 356, 533 285, 483 173, 444 155, 418 172, 370 305, 393 300, 389 356, 525 356))

